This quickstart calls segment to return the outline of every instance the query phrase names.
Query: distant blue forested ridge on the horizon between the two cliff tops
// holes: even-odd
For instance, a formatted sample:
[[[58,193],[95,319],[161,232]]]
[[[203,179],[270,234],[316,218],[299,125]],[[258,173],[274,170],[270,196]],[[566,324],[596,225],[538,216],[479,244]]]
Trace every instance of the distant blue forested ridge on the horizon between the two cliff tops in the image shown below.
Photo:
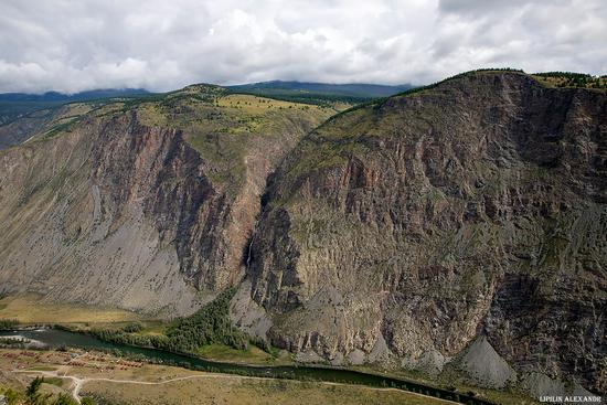
[[[345,99],[348,102],[362,103],[372,98],[387,97],[402,93],[412,85],[386,86],[377,84],[327,84],[308,82],[260,82],[236,86],[227,86],[233,92],[251,93],[270,97],[286,97],[289,99],[313,100]]]

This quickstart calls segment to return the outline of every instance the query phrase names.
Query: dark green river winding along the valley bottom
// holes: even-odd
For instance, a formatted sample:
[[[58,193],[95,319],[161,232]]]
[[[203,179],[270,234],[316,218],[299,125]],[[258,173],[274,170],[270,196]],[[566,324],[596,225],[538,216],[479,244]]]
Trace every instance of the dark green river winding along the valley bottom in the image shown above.
[[[327,366],[254,366],[245,364],[223,363],[203,360],[200,358],[170,353],[157,349],[137,348],[126,344],[100,341],[84,333],[67,332],[58,329],[28,329],[14,331],[0,331],[0,337],[20,335],[35,340],[51,348],[62,345],[87,350],[119,350],[121,353],[145,356],[152,362],[174,364],[192,370],[220,372],[228,374],[244,374],[262,377],[327,381],[336,383],[362,384],[370,386],[392,386],[395,388],[419,393],[444,399],[450,399],[469,405],[490,405],[491,403],[460,393],[426,386],[423,384],[383,376],[379,374],[363,373],[353,370],[336,369]]]

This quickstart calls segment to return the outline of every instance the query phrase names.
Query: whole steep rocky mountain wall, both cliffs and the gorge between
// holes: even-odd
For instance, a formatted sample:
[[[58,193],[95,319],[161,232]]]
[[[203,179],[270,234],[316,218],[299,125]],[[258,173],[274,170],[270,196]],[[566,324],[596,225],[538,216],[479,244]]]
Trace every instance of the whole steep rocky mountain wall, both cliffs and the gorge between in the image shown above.
[[[236,287],[302,362],[603,392],[607,93],[551,81],[67,105],[0,150],[0,294],[172,318]]]

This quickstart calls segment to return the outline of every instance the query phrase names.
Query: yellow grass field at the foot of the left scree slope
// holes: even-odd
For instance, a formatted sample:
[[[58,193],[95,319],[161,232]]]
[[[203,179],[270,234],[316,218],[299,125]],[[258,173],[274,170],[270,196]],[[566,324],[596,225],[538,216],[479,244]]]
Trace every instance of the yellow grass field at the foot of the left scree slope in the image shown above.
[[[97,323],[135,321],[141,316],[121,309],[46,302],[29,294],[2,298],[0,319],[17,319],[20,323]]]

